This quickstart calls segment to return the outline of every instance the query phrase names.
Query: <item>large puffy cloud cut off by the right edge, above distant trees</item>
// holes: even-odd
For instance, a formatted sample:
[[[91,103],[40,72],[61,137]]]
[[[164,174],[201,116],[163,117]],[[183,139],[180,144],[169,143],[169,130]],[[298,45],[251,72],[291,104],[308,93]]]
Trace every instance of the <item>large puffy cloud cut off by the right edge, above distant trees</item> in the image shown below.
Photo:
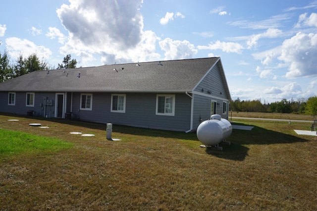
[[[289,65],[286,78],[316,76],[317,34],[297,33],[282,44],[279,60]]]

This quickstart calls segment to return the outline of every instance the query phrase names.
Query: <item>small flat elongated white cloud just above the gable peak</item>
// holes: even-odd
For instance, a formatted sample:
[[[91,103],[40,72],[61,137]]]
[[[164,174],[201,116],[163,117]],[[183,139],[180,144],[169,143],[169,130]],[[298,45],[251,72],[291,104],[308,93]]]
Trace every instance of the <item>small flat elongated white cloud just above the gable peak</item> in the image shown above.
[[[197,47],[199,50],[203,50],[203,49],[209,49],[209,50],[217,50],[220,49],[223,52],[226,53],[242,53],[243,50],[243,46],[238,44],[238,43],[232,43],[232,42],[220,42],[220,41],[216,41],[215,43],[211,43],[208,46],[198,46]]]

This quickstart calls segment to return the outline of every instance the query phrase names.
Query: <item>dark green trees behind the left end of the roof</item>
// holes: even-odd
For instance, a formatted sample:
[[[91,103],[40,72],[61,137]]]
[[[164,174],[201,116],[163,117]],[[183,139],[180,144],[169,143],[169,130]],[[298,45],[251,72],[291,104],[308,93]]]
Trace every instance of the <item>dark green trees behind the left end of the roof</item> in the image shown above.
[[[57,69],[76,68],[76,64],[76,59],[71,59],[71,55],[67,54],[62,63],[58,63]],[[18,58],[12,61],[7,51],[0,52],[0,82],[37,70],[53,69],[55,66],[50,65],[43,58],[40,59],[37,53],[32,53],[27,57],[23,57],[23,54],[20,53]]]

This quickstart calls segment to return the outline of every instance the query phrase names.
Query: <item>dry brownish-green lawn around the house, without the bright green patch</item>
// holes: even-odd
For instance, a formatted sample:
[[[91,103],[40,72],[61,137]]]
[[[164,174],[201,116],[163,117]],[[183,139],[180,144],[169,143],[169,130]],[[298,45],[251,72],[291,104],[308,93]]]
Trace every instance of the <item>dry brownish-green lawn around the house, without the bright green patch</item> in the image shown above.
[[[254,128],[214,151],[195,133],[114,125],[122,141],[108,141],[104,124],[0,115],[3,130],[73,144],[1,157],[0,210],[317,210],[317,138],[293,131],[310,123],[234,124]]]

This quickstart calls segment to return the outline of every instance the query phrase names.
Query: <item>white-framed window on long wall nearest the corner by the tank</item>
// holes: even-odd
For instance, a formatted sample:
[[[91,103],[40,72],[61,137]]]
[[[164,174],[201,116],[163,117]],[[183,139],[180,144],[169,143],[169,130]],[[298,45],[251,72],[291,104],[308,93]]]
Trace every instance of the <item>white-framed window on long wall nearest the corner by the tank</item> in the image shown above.
[[[157,95],[157,115],[175,115],[175,95]]]

